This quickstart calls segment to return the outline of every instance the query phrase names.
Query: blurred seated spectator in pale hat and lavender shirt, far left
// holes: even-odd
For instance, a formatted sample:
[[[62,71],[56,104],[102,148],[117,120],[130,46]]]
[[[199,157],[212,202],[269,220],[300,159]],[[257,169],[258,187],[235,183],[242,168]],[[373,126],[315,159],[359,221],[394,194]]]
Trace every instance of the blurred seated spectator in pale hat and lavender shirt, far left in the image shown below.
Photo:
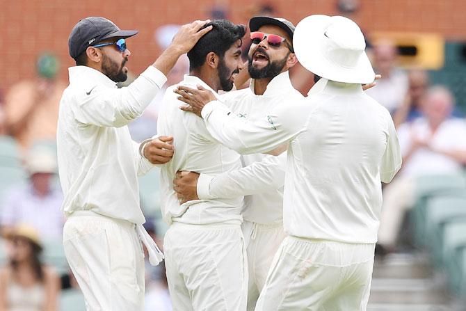
[[[26,158],[29,184],[14,187],[0,208],[4,232],[18,223],[31,225],[43,240],[60,240],[63,235],[63,195],[53,186],[56,157],[45,147],[36,147]]]

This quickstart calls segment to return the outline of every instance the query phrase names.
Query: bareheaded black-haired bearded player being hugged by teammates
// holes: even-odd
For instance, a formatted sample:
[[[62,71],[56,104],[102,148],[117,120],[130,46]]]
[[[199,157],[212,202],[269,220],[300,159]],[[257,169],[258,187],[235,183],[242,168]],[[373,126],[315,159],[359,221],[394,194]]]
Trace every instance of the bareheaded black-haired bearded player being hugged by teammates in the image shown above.
[[[242,67],[242,25],[227,20],[207,24],[213,29],[188,52],[189,74],[178,86],[200,85],[231,90]],[[170,225],[163,241],[173,310],[246,310],[248,271],[241,232],[243,197],[179,202],[173,180],[179,170],[218,175],[241,168],[239,154],[220,144],[202,119],[179,109],[181,102],[167,89],[158,119],[158,134],[173,136],[175,154],[161,168],[161,210]]]

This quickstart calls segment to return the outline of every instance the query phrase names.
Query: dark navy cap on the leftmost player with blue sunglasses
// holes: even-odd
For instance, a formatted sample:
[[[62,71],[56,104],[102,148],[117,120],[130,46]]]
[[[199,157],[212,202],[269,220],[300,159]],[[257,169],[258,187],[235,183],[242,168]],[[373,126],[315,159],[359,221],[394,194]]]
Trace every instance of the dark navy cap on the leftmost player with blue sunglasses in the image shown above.
[[[86,17],[74,25],[68,38],[68,49],[72,58],[77,58],[88,47],[109,38],[129,38],[137,30],[121,30],[104,17]]]

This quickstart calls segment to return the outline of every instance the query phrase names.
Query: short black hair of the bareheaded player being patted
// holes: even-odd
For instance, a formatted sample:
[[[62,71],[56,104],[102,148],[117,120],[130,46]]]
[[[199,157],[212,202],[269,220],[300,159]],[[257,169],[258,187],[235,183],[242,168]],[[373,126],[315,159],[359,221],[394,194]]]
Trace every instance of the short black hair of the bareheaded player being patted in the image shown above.
[[[188,51],[189,71],[204,65],[205,57],[210,52],[223,59],[225,51],[246,33],[245,26],[235,25],[227,19],[214,20],[202,26],[202,29],[208,26],[212,26],[212,30],[203,35],[191,51]]]

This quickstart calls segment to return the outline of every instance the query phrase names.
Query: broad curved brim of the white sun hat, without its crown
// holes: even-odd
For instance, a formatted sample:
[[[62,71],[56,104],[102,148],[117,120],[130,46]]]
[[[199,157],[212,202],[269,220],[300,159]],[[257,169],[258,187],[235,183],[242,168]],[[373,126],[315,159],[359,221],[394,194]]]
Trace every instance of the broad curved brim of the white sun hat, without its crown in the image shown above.
[[[323,55],[323,33],[331,22],[330,16],[312,15],[305,17],[296,26],[293,47],[300,64],[310,72],[332,81],[362,84],[373,82],[376,74],[367,54],[361,54],[355,67],[342,67]]]

